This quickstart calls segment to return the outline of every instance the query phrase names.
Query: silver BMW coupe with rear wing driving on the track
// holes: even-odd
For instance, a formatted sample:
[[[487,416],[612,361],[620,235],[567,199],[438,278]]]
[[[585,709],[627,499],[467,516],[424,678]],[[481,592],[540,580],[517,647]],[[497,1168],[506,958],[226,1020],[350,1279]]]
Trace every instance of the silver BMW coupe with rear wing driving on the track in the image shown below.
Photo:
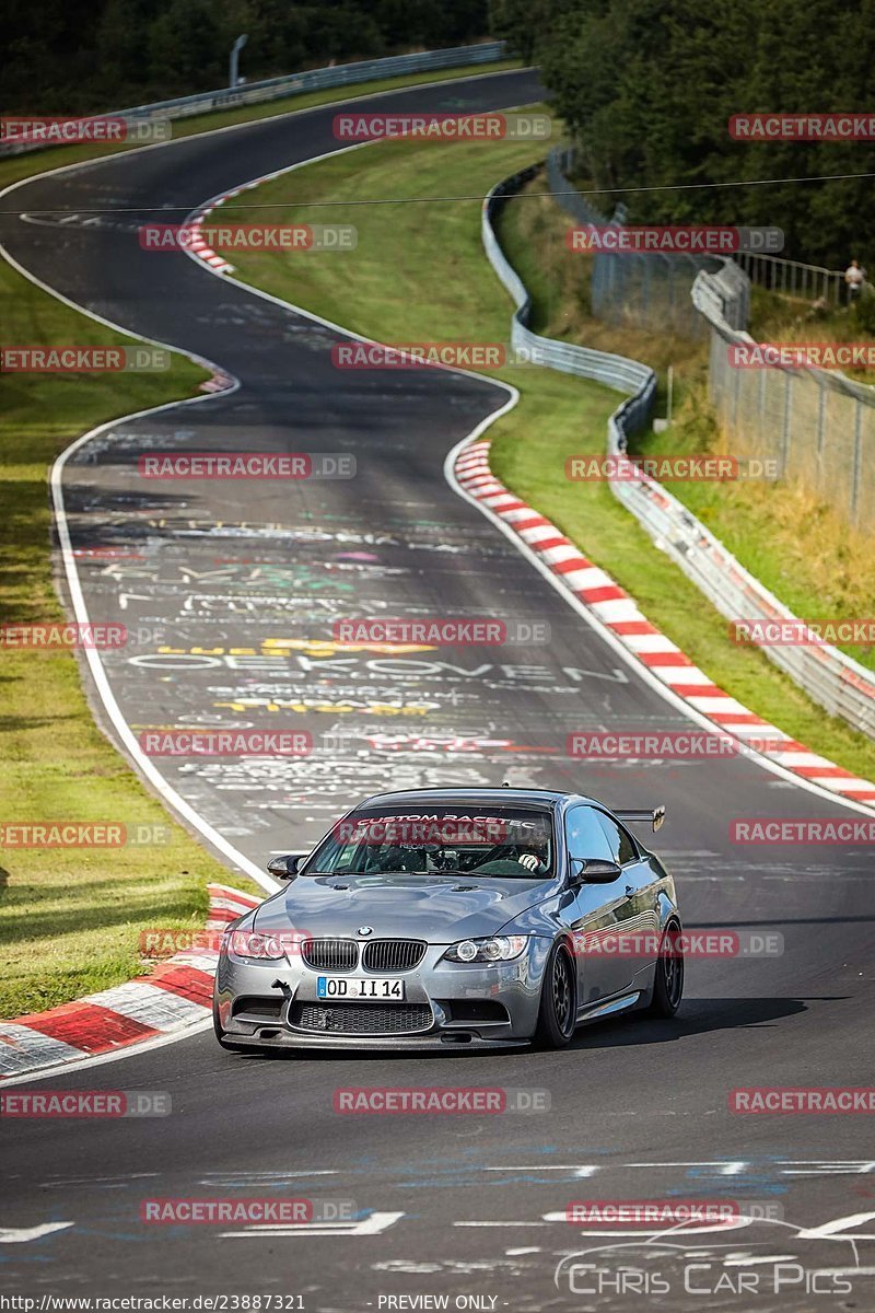
[[[669,1018],[674,881],[611,811],[539,789],[417,789],[353,807],[234,922],[215,978],[226,1049],[561,1048],[586,1022]]]

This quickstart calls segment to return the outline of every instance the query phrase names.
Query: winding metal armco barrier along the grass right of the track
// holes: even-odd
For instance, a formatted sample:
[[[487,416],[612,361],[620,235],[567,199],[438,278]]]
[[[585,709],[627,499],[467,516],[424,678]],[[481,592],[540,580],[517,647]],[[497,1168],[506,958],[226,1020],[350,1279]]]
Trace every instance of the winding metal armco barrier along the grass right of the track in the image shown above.
[[[649,366],[624,356],[590,351],[533,334],[526,327],[529,293],[505,259],[495,234],[493,218],[502,198],[525,186],[538,168],[535,165],[505,179],[489,192],[483,206],[483,244],[492,268],[516,305],[512,345],[530,351],[537,348],[539,356],[535,358],[543,360],[551,369],[593,378],[628,394],[628,399],[622,402],[607,423],[607,453],[621,456],[626,453],[628,436],[649,416],[656,374]],[[725,335],[728,341],[752,340],[748,334],[732,328],[727,319],[727,314],[733,319],[740,315],[748,294],[746,276],[729,260],[716,274],[699,273],[693,286],[697,310],[706,316],[712,330],[719,326],[720,335]],[[798,618],[661,483],[643,474],[640,482],[611,479],[610,487],[720,614],[728,620]],[[830,716],[840,716],[854,729],[875,738],[875,674],[829,645],[763,647],[762,651]]]

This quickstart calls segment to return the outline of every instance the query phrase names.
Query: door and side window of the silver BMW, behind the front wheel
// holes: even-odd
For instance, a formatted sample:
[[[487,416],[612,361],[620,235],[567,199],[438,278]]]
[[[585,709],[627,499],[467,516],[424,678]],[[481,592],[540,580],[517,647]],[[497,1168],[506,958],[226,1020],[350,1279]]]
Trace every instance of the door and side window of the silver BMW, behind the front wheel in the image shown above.
[[[617,861],[598,809],[579,804],[565,813],[565,846],[575,859]],[[610,884],[581,884],[575,890],[573,916],[577,944],[577,999],[590,1006],[621,993],[631,981],[634,964],[611,945],[614,931],[627,918],[624,876]]]

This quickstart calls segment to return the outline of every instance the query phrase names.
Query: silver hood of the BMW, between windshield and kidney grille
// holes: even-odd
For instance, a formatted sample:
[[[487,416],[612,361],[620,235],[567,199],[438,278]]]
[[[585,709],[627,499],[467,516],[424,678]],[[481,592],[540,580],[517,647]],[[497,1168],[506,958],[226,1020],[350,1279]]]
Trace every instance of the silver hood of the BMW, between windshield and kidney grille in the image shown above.
[[[258,907],[254,928],[307,936],[425,939],[451,944],[495,935],[555,893],[554,880],[466,876],[302,876]]]

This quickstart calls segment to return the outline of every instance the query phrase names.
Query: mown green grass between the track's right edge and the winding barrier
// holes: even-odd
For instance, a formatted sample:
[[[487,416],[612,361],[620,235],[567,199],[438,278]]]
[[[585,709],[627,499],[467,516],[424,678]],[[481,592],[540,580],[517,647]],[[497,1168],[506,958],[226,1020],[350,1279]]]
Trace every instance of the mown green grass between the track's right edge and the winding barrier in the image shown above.
[[[258,190],[258,198],[277,206],[272,222],[300,223],[312,215],[302,202],[380,193],[399,198],[484,194],[527,163],[531,147],[513,142],[488,147],[390,142],[277,179]],[[559,312],[561,289],[538,277],[544,244],[526,228],[538,205],[513,202],[502,236],[514,263],[531,280],[542,312],[548,314],[551,305]],[[223,219],[240,215],[231,206],[223,209]],[[325,223],[348,223],[350,210],[338,205],[320,210],[319,217]],[[480,246],[479,202],[362,206],[356,209],[354,222],[358,246],[353,253],[235,255],[237,276],[386,341],[506,343],[510,302]],[[573,332],[573,326],[567,326],[567,332]],[[627,352],[635,355],[632,339],[626,341]],[[670,343],[659,345],[664,353],[670,349]],[[694,373],[701,368],[695,348],[685,349]],[[657,551],[606,484],[565,481],[568,456],[605,450],[606,419],[617,406],[617,394],[542,369],[508,369],[499,377],[522,393],[519,406],[491,431],[499,478],[609,570],[718,684],[813,750],[863,776],[875,776],[875,746],[844,722],[829,720],[761,653],[732,643],[723,617]]]

